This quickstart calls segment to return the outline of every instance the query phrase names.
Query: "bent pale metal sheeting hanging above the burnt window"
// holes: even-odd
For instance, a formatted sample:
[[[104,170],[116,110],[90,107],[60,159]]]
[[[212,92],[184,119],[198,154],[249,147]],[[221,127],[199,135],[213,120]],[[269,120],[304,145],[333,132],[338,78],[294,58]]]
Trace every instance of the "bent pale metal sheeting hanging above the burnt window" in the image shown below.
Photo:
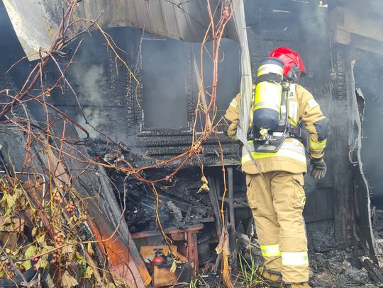
[[[13,28],[29,59],[37,59],[40,47],[48,49],[60,24],[64,2],[59,0],[3,0]],[[211,0],[211,7],[221,3]],[[133,27],[147,33],[187,42],[201,42],[210,19],[206,0],[84,0],[79,3],[77,17],[96,19],[103,28]],[[221,6],[216,17],[221,15]],[[88,23],[87,23],[88,25]],[[38,28],[38,29],[36,29]],[[228,23],[226,37],[238,41],[234,21]]]

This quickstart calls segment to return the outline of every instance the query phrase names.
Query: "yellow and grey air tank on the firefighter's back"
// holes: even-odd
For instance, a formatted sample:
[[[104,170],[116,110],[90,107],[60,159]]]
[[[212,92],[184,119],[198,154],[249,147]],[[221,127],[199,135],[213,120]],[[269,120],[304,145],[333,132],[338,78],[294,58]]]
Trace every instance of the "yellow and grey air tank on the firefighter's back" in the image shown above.
[[[257,71],[252,127],[254,135],[260,129],[272,131],[278,126],[282,98],[284,63],[272,57],[263,58]]]

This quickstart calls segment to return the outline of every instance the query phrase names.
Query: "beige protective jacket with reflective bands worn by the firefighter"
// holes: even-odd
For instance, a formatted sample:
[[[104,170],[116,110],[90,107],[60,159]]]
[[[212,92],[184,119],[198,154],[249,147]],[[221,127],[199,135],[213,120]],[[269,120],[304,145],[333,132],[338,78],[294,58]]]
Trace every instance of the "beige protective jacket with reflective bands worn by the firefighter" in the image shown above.
[[[292,84],[289,93],[289,122],[293,125],[301,120],[309,131],[309,156],[312,159],[323,157],[329,132],[329,121],[309,91],[298,84]],[[226,110],[226,119],[231,123],[228,137],[235,139],[240,115],[240,94],[235,96]],[[250,127],[250,123],[249,123]],[[287,138],[274,153],[255,152],[252,140],[242,150],[242,171],[248,174],[270,171],[306,173],[305,148],[297,139]]]

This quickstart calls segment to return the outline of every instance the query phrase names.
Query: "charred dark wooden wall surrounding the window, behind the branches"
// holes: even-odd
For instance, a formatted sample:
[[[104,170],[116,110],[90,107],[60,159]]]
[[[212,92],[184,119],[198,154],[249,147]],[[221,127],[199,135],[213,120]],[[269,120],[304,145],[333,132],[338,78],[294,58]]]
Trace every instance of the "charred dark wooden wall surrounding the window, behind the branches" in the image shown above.
[[[155,163],[155,161],[150,161],[150,157],[160,160],[170,159],[172,156],[186,151],[191,144],[196,98],[198,95],[198,85],[196,76],[194,75],[192,54],[196,54],[197,62],[199,63],[199,51],[196,50],[196,46],[199,47],[199,44],[183,43],[177,40],[160,38],[148,34],[144,36],[146,40],[142,40],[143,33],[133,28],[113,28],[108,32],[116,41],[118,47],[126,51],[126,53],[122,53],[123,59],[131,68],[134,77],[138,79],[139,83],[133,79],[133,75],[123,67],[121,62],[117,64],[117,67],[115,66],[115,56],[113,52],[106,50],[104,45],[105,40],[99,33],[94,33],[92,38],[87,38],[77,56],[77,64],[70,69],[69,73],[70,79],[72,83],[74,83],[74,88],[76,91],[79,91],[79,100],[82,103],[82,108],[89,122],[97,127],[97,129],[100,129],[101,132],[109,135],[113,141],[121,142],[123,146],[135,149],[135,151],[149,156],[145,160],[143,160],[141,156],[138,156],[137,159],[135,159],[138,166],[147,166]],[[168,105],[170,109],[168,109],[167,113],[164,113],[164,110],[160,108],[158,108],[158,111],[154,110],[149,112],[158,113],[159,115],[156,117],[169,118],[170,125],[168,128],[156,127],[156,125],[152,123],[153,120],[151,120],[150,124],[148,124],[148,121],[145,121],[145,117],[150,117],[150,115],[147,115],[148,112],[145,111],[145,107],[148,106],[148,103],[145,103],[145,99],[146,101],[157,101],[157,99],[155,96],[145,98],[145,88],[146,86],[150,86],[150,80],[153,81],[153,78],[150,79],[148,76],[145,77],[145,75],[143,75],[143,73],[145,73],[145,71],[143,72],[143,59],[145,59],[143,58],[145,57],[143,53],[145,50],[143,50],[142,47],[148,45],[146,44],[148,42],[156,41],[168,41],[174,43],[174,45],[182,44],[186,56],[182,60],[184,63],[181,63],[186,68],[185,71],[183,71],[186,85],[184,93],[180,93],[179,95],[185,107],[179,107],[174,101],[168,100],[166,105]],[[230,93],[229,98],[226,92],[226,99],[218,100],[217,121],[222,117],[231,98],[239,91],[239,50],[237,44],[234,43],[234,45],[231,45],[237,49],[231,52],[231,54],[236,53],[238,57],[236,59],[236,66],[233,67],[233,72],[228,75],[231,76],[234,74],[236,78],[229,79],[228,76],[222,73],[221,80],[226,83],[226,87],[221,88],[222,93],[228,90],[228,86],[233,93]],[[169,53],[172,53],[172,50],[169,50]],[[148,54],[146,54],[146,56],[150,57]],[[169,57],[171,57],[171,55]],[[233,61],[235,61],[235,59]],[[206,61],[206,67],[209,66],[208,64],[209,62]],[[174,64],[170,63],[170,65]],[[174,69],[176,68],[177,67],[174,67]],[[157,73],[158,77],[164,77],[161,69],[156,71],[155,66],[150,67],[150,69]],[[209,69],[206,70],[208,71],[205,73],[209,74]],[[149,72],[152,74],[152,71],[147,72],[148,74]],[[172,79],[171,74],[169,78]],[[84,82],[87,81],[87,79],[93,81],[91,86]],[[230,86],[228,83],[233,84]],[[175,86],[177,85],[174,83],[174,87]],[[158,94],[160,94],[162,90],[170,91],[172,86],[169,86],[169,83],[158,83],[157,87],[152,88],[157,89]],[[152,93],[152,91],[148,91],[147,88],[147,93]],[[57,107],[67,111],[67,113],[79,120],[81,124],[84,124],[84,119],[80,115],[77,102],[68,87],[65,87],[64,95],[58,93],[53,101]],[[177,110],[180,109],[185,110],[185,120],[182,121],[186,122],[186,124],[177,121],[176,114],[178,112]],[[85,127],[87,127],[87,125],[85,125]],[[91,136],[103,138],[90,127],[87,128],[89,128]],[[199,131],[200,129],[201,124],[198,123],[196,130]],[[226,162],[236,163],[235,161],[238,160],[238,147],[225,137],[222,132],[218,133],[218,139],[220,139],[221,144],[223,144]],[[219,151],[220,149],[216,143],[216,139],[210,139],[204,145],[204,151],[200,155],[200,158],[205,165],[214,165],[220,162]],[[199,159],[192,159],[188,166],[197,165],[198,162]],[[180,161],[174,161],[170,166],[177,167],[180,163]]]

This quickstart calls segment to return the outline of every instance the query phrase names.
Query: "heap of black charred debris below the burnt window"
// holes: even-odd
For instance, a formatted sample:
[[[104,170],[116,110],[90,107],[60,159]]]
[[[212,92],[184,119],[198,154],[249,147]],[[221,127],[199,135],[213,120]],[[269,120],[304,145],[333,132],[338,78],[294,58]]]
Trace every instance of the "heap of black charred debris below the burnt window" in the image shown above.
[[[107,142],[98,139],[89,144],[89,153],[107,163],[118,163],[118,158],[121,157],[128,159],[133,165],[135,162],[130,152],[111,149]],[[157,229],[157,215],[164,229],[186,229],[189,226],[214,221],[209,195],[204,191],[197,193],[201,187],[201,183],[196,181],[201,178],[199,168],[185,168],[172,179],[170,185],[155,185],[157,195],[150,185],[136,180],[133,175],[114,169],[106,171],[116,199],[122,201],[121,195],[126,193],[125,219],[132,233]],[[170,173],[168,169],[153,168],[145,171],[145,178],[162,178]],[[120,205],[123,206],[123,203]]]

